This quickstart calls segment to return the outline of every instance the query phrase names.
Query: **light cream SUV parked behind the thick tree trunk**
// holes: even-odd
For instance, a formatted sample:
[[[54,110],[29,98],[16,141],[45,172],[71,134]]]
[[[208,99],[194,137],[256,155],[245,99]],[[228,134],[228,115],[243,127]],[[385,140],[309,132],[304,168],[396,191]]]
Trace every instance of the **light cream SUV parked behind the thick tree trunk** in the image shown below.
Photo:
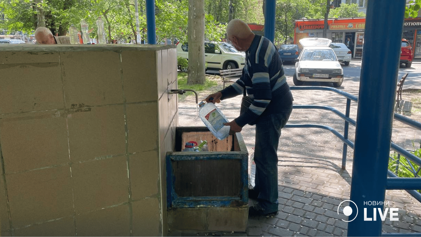
[[[189,59],[189,44],[177,43],[177,56]],[[205,42],[205,62],[207,69],[225,70],[243,68],[245,53],[237,51],[232,45],[224,42]]]

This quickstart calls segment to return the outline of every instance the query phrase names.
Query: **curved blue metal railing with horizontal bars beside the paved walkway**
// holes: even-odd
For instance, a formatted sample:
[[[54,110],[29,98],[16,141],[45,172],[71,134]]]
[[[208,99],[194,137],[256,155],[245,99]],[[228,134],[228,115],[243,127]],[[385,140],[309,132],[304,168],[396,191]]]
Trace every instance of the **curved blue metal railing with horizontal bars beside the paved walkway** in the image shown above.
[[[321,124],[287,124],[285,125],[285,128],[320,128],[320,129],[326,129],[333,133],[336,137],[341,139],[344,142],[344,148],[342,151],[342,169],[345,169],[346,167],[346,154],[347,154],[347,147],[354,148],[354,143],[348,139],[348,132],[349,132],[349,124],[352,124],[356,126],[356,122],[354,119],[349,117],[350,108],[351,108],[351,100],[354,102],[358,102],[358,98],[352,94],[349,94],[347,92],[343,92],[341,90],[338,90],[336,88],[332,87],[322,87],[322,86],[292,86],[291,90],[324,90],[324,91],[330,91],[335,92],[336,94],[339,94],[346,98],[346,108],[345,108],[345,114],[341,113],[340,111],[336,110],[333,107],[330,106],[322,106],[322,105],[293,105],[293,109],[321,109],[321,110],[329,110],[333,113],[335,113],[337,116],[344,119],[344,135],[342,135],[340,132],[336,131],[332,127],[321,125]],[[421,130],[421,123],[415,120],[412,120],[410,118],[407,118],[405,116],[402,116],[400,114],[395,113],[394,119],[397,121],[400,121],[402,123],[405,123],[414,129]],[[390,148],[397,152],[398,154],[405,157],[405,159],[410,160],[421,167],[421,159],[418,156],[415,156],[414,154],[410,153],[409,151],[405,150],[404,148],[400,147],[399,145],[396,145],[395,143],[391,143]],[[406,167],[410,172],[412,172],[414,175],[417,175],[421,168],[416,170],[410,162],[409,166]],[[399,178],[397,175],[395,175],[392,171],[388,170],[387,175],[389,178],[386,179],[386,188],[388,190],[392,189],[399,189],[399,190],[406,190],[409,194],[411,194],[415,199],[418,200],[418,202],[421,202],[421,194],[416,191],[415,189],[421,189],[421,178]],[[417,177],[417,176],[415,176]],[[382,233],[381,236],[420,236],[420,233]]]

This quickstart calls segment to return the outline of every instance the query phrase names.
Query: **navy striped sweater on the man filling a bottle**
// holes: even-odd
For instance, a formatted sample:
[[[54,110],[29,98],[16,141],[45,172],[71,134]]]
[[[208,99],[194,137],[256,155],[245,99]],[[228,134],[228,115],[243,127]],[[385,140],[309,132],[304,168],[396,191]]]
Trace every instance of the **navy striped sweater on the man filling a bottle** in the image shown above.
[[[293,101],[282,61],[269,39],[255,35],[245,55],[240,79],[221,90],[221,100],[224,100],[242,94],[245,86],[248,96],[253,100],[248,110],[235,118],[240,127],[254,124],[253,121],[261,115],[287,110]]]

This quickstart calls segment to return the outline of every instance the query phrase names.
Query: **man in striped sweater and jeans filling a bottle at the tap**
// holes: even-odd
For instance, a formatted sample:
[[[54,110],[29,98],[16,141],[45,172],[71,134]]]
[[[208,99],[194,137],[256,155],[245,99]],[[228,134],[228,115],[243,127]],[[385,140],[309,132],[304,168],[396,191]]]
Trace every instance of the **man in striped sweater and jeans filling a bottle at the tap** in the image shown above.
[[[240,132],[245,124],[256,124],[254,162],[255,187],[248,191],[256,199],[249,216],[278,213],[278,156],[281,129],[292,112],[293,97],[286,81],[282,61],[274,44],[255,35],[244,21],[233,19],[226,27],[228,40],[238,51],[245,51],[242,76],[231,86],[210,94],[206,102],[217,102],[247,92],[252,103],[248,109],[225,125],[230,133]]]

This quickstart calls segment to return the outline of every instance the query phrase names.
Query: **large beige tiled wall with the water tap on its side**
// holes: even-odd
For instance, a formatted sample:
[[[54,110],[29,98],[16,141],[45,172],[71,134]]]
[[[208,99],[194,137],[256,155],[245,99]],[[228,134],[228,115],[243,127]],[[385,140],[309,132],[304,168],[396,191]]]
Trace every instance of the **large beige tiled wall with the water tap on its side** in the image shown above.
[[[174,46],[0,47],[2,236],[165,236]]]

